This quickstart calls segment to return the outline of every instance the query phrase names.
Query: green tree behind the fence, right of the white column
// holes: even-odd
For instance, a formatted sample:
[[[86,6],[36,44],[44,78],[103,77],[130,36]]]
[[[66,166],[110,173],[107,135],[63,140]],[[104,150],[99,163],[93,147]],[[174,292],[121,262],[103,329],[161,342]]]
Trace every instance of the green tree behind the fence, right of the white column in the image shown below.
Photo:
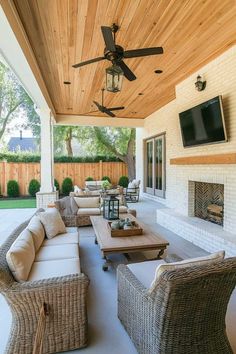
[[[74,134],[88,152],[115,155],[128,166],[129,180],[135,178],[135,129],[77,127]]]

